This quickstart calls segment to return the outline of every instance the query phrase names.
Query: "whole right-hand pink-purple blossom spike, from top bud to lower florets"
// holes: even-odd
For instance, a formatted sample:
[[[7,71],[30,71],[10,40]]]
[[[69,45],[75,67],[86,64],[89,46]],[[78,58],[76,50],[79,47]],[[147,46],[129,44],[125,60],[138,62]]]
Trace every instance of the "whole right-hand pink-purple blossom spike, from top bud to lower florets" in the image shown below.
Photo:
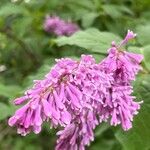
[[[135,34],[128,31],[124,41],[134,37]],[[121,51],[115,42],[112,43],[108,57],[100,63],[105,72],[112,73],[114,78],[104,105],[99,109],[101,120],[111,118],[111,125],[121,124],[124,130],[132,127],[133,116],[138,113],[141,103],[134,101],[132,81],[142,69],[142,59],[142,55]]]

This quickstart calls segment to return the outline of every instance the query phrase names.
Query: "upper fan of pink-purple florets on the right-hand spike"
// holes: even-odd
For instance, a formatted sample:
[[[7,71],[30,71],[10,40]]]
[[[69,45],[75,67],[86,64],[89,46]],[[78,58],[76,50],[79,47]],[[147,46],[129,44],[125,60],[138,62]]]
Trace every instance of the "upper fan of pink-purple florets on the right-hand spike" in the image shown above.
[[[117,47],[109,49],[109,55],[101,62],[106,72],[113,72],[114,78],[122,81],[135,80],[135,75],[142,69],[143,55],[120,51]]]

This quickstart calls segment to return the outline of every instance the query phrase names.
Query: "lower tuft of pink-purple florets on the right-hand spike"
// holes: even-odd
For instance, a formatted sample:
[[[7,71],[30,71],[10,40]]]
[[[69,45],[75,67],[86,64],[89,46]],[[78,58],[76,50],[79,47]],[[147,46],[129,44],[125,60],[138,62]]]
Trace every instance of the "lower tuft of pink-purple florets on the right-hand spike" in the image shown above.
[[[106,101],[105,105],[107,107],[103,108],[104,110],[109,110],[111,125],[121,124],[124,130],[129,130],[132,127],[133,116],[140,109],[141,102],[134,102],[133,99],[135,97],[131,93],[132,86],[118,85],[112,88],[110,99],[112,103]]]

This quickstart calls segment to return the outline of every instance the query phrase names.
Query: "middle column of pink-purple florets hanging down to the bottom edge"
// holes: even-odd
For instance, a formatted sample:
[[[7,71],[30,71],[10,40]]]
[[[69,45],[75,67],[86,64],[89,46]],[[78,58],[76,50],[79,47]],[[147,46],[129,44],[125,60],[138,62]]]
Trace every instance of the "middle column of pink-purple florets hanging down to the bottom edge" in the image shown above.
[[[111,74],[101,70],[91,55],[81,56],[80,63],[74,70],[73,81],[82,92],[82,109],[73,117],[71,124],[57,133],[59,139],[56,150],[84,150],[86,145],[90,145],[100,119],[100,116],[97,117],[97,109],[103,105],[112,80]]]

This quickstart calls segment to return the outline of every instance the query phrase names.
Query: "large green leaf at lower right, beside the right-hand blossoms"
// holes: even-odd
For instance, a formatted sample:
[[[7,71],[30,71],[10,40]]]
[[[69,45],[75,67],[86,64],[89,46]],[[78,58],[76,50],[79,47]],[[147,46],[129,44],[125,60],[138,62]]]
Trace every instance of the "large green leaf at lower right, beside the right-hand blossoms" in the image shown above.
[[[144,100],[139,114],[128,132],[119,130],[115,136],[125,150],[148,150],[150,148],[150,75],[140,76],[134,84],[135,95]]]

